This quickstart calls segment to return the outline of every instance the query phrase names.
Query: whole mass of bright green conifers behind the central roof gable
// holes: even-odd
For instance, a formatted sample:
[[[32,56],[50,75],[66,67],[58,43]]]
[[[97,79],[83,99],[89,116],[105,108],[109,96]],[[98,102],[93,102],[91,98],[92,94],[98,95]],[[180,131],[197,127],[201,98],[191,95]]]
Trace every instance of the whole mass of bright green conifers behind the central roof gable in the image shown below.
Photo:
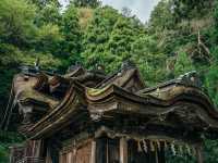
[[[165,68],[160,67],[165,66],[161,60],[166,58],[157,50],[155,39],[147,35],[144,25],[109,7],[95,11],[84,34],[82,55],[86,66],[104,63],[108,72],[118,70],[123,60],[131,59],[150,84],[165,77],[159,74],[165,74]]]

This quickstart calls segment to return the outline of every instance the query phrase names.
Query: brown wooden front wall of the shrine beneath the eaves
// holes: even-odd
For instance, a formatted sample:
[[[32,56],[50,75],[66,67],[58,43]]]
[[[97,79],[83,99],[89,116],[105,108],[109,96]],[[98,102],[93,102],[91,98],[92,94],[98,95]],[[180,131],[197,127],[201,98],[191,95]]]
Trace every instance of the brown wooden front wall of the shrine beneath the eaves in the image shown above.
[[[147,152],[138,151],[138,142],[135,140],[102,137],[75,145],[63,147],[59,151],[59,161],[53,161],[48,150],[46,163],[165,163],[162,148],[153,151],[148,146]]]

